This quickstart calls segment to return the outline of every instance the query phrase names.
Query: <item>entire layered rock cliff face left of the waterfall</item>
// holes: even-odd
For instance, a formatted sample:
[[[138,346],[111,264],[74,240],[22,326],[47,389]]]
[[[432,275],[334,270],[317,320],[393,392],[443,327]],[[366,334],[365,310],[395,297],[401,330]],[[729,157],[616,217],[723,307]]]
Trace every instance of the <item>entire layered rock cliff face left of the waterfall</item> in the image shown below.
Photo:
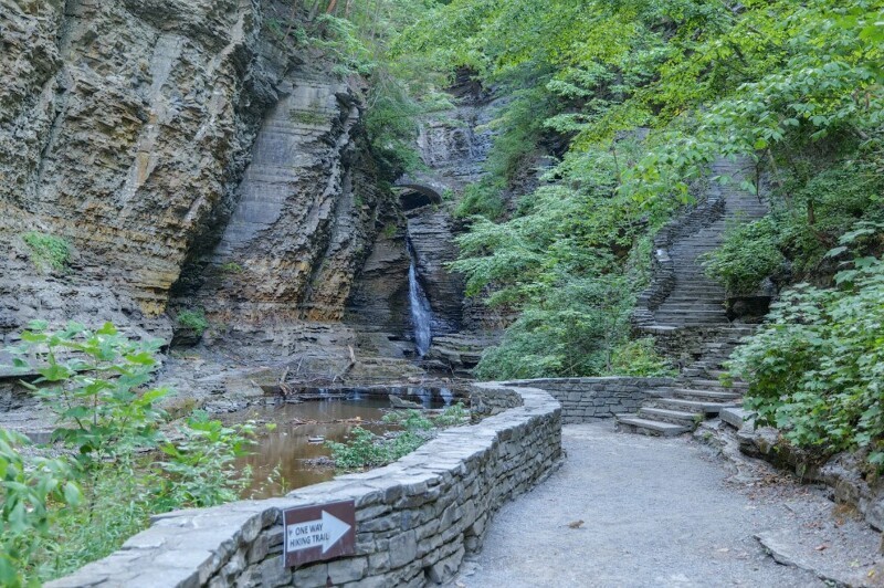
[[[338,319],[396,202],[361,88],[259,0],[0,0],[0,328]],[[392,222],[396,222],[394,220]],[[72,245],[39,271],[29,231]],[[403,245],[404,249],[404,245]]]

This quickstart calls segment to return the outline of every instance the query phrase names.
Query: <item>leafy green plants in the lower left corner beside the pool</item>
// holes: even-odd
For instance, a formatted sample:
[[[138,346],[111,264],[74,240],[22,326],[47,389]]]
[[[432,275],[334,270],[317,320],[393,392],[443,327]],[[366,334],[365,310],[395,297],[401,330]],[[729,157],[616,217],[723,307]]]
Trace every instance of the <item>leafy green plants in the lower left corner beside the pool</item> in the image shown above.
[[[149,385],[158,347],[110,324],[51,332],[32,322],[21,344],[6,349],[14,368],[39,374],[24,386],[54,412],[52,437],[65,451],[43,458],[44,450],[0,429],[3,586],[34,585],[104,557],[151,514],[239,496],[245,480],[231,462],[251,426],[194,416],[168,440],[158,403],[169,390]]]

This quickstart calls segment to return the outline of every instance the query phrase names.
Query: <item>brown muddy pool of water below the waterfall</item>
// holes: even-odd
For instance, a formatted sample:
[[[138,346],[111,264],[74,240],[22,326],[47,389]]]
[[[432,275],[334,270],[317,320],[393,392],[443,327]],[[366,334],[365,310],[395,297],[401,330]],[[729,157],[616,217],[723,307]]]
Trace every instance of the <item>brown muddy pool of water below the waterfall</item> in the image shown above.
[[[381,434],[393,429],[382,422],[391,410],[389,395],[418,402],[428,409],[444,408],[463,397],[448,388],[372,388],[317,390],[311,400],[299,403],[257,406],[230,414],[233,422],[254,420],[274,423],[275,430],[260,427],[252,453],[236,461],[238,469],[252,470],[252,483],[245,498],[282,496],[292,490],[326,482],[335,469],[317,461],[329,458],[325,441],[343,442],[355,427]]]

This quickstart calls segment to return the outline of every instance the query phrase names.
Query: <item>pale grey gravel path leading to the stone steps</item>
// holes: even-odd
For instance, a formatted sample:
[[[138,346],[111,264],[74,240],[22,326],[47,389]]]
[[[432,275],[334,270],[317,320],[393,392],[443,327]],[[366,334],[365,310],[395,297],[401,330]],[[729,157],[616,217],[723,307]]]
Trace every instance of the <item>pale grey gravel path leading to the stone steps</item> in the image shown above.
[[[821,492],[760,462],[757,475],[740,468],[732,476],[733,466],[686,438],[615,433],[610,423],[593,423],[566,427],[564,442],[565,465],[497,513],[483,552],[464,563],[452,586],[827,585],[777,564],[755,537],[800,537],[808,526],[818,532],[808,523],[813,516],[830,524],[833,504]],[[874,550],[877,535],[853,524],[863,548]]]

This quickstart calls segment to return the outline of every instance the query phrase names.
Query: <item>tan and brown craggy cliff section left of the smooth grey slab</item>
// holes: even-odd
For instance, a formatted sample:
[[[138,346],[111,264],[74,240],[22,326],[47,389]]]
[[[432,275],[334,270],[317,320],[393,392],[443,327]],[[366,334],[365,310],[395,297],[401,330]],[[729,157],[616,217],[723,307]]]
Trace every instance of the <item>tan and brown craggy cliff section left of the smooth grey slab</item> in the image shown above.
[[[22,231],[62,237],[80,253],[69,283],[113,284],[133,311],[162,313],[276,97],[276,72],[259,56],[260,7],[2,0],[0,9],[0,239],[21,252]]]

